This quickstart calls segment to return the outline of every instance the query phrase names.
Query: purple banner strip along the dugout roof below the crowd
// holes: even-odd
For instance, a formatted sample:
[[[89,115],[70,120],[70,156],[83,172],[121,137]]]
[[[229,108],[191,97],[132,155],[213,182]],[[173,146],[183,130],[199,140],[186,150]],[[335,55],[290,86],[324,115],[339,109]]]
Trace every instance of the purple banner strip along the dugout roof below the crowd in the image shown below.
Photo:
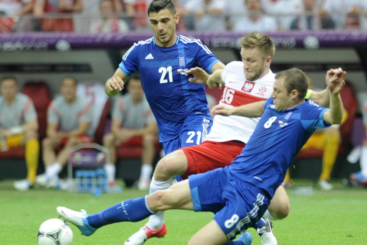
[[[191,39],[200,39],[211,49],[240,48],[246,33],[236,32],[178,32]],[[287,31],[267,32],[277,48],[318,49],[322,47],[366,47],[367,32],[363,31]],[[153,32],[110,34],[80,33],[4,33],[0,34],[0,52],[127,49],[134,42],[152,37]]]

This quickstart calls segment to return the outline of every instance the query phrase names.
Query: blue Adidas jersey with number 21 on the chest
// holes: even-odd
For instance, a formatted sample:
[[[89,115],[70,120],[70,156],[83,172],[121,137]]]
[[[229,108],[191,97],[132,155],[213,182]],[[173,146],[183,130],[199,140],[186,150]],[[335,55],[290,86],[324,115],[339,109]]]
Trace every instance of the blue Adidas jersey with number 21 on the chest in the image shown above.
[[[146,100],[157,120],[160,142],[166,142],[180,135],[190,116],[210,118],[204,85],[189,82],[185,72],[199,66],[211,73],[219,60],[198,39],[180,35],[171,47],[160,47],[154,39],[134,43],[119,67],[127,76],[139,71]]]

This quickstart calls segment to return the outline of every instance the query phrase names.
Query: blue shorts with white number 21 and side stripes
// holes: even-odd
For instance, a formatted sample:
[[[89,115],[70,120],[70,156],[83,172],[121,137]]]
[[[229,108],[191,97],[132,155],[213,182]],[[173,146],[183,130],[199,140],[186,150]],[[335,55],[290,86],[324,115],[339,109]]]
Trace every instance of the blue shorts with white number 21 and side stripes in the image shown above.
[[[186,146],[200,145],[210,132],[211,125],[213,124],[211,117],[202,114],[190,117],[186,121],[177,138],[162,142],[166,155]],[[181,176],[175,176],[175,178],[177,181],[183,180]]]

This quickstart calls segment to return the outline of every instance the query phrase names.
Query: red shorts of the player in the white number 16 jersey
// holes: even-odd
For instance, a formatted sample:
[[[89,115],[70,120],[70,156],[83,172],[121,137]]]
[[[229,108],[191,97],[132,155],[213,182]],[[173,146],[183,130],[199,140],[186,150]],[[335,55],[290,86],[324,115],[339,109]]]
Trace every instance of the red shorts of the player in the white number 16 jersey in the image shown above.
[[[187,158],[187,170],[181,177],[187,179],[192,174],[228,166],[240,155],[245,145],[240,141],[204,141],[200,145],[182,148]]]

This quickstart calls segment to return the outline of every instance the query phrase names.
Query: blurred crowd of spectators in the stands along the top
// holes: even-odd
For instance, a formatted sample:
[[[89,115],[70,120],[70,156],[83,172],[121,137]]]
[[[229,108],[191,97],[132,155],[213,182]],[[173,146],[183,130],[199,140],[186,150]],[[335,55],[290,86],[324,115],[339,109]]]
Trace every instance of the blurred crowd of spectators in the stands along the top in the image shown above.
[[[0,0],[0,32],[149,30],[151,0]],[[175,0],[179,30],[367,29],[366,0]]]

